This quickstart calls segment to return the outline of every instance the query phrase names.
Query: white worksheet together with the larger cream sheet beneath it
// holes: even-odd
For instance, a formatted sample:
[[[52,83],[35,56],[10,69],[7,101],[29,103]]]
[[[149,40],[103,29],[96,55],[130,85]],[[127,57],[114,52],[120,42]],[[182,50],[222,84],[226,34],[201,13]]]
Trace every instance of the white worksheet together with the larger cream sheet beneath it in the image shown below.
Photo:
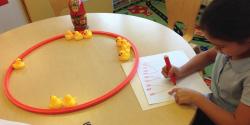
[[[209,88],[198,73],[194,73],[188,77],[177,81],[177,85],[170,83],[169,79],[162,74],[162,67],[165,66],[164,56],[169,56],[170,62],[175,67],[180,67],[185,64],[189,58],[183,51],[172,51],[151,56],[140,57],[138,71],[135,78],[131,81],[132,88],[143,109],[150,109],[157,106],[166,105],[173,102],[173,97],[168,94],[168,91],[174,87],[185,87],[203,94],[210,93]],[[131,62],[122,64],[125,73],[128,75],[131,70]],[[139,77],[139,80],[138,78]],[[141,84],[138,85],[138,84]],[[144,93],[142,92],[142,90]],[[143,97],[145,96],[145,97]],[[147,104],[145,104],[145,99]],[[161,104],[164,103],[164,104]]]

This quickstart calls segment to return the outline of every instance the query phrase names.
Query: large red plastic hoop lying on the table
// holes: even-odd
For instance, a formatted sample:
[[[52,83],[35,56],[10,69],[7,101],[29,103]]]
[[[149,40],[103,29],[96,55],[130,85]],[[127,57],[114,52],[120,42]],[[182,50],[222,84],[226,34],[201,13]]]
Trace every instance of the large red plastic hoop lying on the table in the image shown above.
[[[106,36],[113,37],[113,38],[117,38],[118,36],[120,36],[122,38],[127,39],[126,37],[123,37],[123,36],[118,35],[118,34],[110,33],[110,32],[104,32],[104,31],[92,31],[92,32],[93,32],[93,34],[106,35]],[[21,55],[19,55],[18,58],[23,59],[28,54],[30,54],[32,51],[36,50],[37,48],[39,48],[39,47],[41,47],[41,46],[43,46],[43,45],[45,45],[47,43],[50,43],[50,42],[53,42],[55,40],[61,39],[61,38],[64,38],[64,34],[60,34],[60,35],[54,36],[52,38],[46,39],[44,41],[41,41],[40,43],[38,43],[38,44],[32,46],[31,48],[27,49],[25,52],[23,52]],[[134,77],[134,75],[136,74],[138,63],[139,63],[138,51],[137,51],[136,46],[130,40],[127,39],[127,41],[131,44],[131,47],[132,47],[133,52],[134,52],[134,57],[135,57],[135,61],[134,61],[132,70],[130,71],[129,75],[125,78],[125,80],[123,80],[120,84],[118,84],[116,87],[114,87],[113,89],[111,89],[107,93],[105,93],[105,94],[103,94],[103,95],[101,95],[101,96],[99,96],[99,97],[97,97],[95,99],[92,99],[90,101],[87,101],[85,103],[82,103],[82,104],[79,104],[79,105],[76,105],[76,106],[73,106],[73,107],[66,107],[66,108],[61,108],[61,109],[36,108],[36,107],[26,105],[26,104],[18,101],[17,99],[15,99],[12,96],[12,94],[11,94],[11,92],[9,90],[9,79],[10,79],[11,73],[13,71],[12,64],[15,61],[13,61],[11,63],[11,65],[9,66],[9,68],[8,68],[6,74],[5,74],[4,84],[3,84],[4,94],[16,106],[18,106],[18,107],[20,107],[20,108],[22,108],[24,110],[34,112],[34,113],[40,113],[40,114],[53,115],[53,114],[69,113],[69,112],[74,112],[74,111],[86,109],[86,108],[89,108],[89,107],[94,106],[96,104],[99,104],[99,103],[109,99],[110,97],[114,96],[121,89],[123,89],[126,85],[128,85],[129,82]]]

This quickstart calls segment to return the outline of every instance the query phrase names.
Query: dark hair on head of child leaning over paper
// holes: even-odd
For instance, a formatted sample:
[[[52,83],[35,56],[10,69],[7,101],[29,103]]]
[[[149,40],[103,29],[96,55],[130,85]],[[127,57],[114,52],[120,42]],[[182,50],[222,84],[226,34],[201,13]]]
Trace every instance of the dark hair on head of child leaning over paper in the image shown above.
[[[213,0],[200,22],[210,36],[233,42],[250,38],[250,0]]]

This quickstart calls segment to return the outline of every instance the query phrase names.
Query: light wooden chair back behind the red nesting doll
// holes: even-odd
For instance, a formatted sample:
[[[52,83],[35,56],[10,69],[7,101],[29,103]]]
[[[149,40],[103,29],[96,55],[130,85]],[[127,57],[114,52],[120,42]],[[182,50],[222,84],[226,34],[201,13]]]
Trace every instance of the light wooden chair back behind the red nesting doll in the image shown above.
[[[112,13],[112,0],[84,0],[87,12]],[[68,14],[67,0],[24,0],[31,21]]]

